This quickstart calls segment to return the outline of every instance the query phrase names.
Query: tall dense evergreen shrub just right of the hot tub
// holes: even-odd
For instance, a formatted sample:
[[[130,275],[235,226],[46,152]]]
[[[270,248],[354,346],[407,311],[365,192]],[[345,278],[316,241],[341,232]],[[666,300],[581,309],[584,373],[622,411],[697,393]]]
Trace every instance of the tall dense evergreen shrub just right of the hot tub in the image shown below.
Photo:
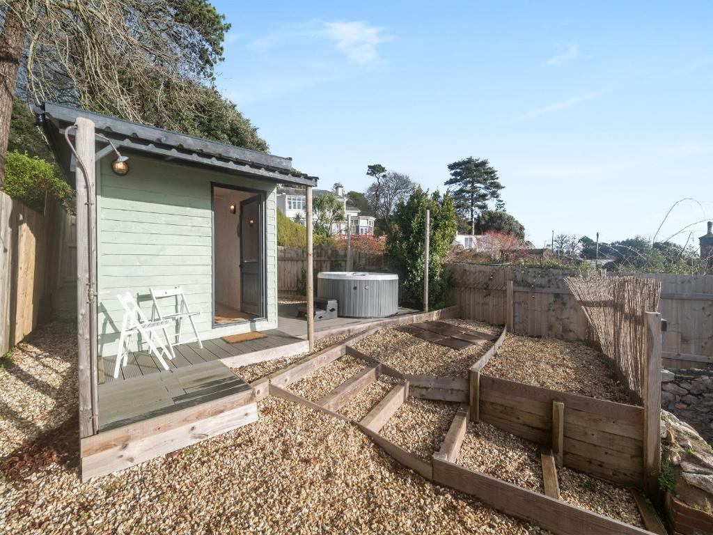
[[[401,302],[411,307],[424,305],[424,251],[426,208],[431,210],[429,233],[429,303],[446,305],[448,280],[445,265],[448,250],[456,237],[456,209],[448,193],[417,187],[409,200],[401,200],[386,229],[386,260],[399,274]]]

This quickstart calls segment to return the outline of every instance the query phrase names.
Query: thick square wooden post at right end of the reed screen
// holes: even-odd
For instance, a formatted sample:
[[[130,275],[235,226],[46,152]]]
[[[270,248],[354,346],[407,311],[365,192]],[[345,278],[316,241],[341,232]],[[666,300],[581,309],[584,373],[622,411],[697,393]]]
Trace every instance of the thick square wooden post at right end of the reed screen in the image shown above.
[[[644,368],[644,488],[650,499],[660,494],[661,472],[661,314],[645,313],[647,355]]]

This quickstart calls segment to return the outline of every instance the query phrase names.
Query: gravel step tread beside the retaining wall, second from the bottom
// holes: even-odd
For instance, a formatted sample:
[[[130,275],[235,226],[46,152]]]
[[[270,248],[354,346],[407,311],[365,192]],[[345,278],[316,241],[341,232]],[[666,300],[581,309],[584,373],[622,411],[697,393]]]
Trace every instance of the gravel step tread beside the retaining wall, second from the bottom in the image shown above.
[[[468,422],[458,464],[525,489],[544,492],[540,447],[486,422]]]

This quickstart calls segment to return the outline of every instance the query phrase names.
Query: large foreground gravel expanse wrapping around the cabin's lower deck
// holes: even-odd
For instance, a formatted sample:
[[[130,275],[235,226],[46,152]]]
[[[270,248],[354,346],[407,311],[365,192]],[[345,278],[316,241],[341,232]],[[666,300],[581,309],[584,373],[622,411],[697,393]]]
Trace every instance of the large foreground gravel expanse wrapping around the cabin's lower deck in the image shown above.
[[[45,328],[32,346],[61,353],[25,346],[2,374],[6,406],[56,386],[42,407],[0,413],[1,428],[14,429],[3,447],[15,449],[0,463],[0,533],[541,532],[399,467],[353,425],[272,397],[255,424],[81,484],[76,416],[48,430],[61,407],[76,407],[68,331]],[[20,461],[31,470],[18,471]]]

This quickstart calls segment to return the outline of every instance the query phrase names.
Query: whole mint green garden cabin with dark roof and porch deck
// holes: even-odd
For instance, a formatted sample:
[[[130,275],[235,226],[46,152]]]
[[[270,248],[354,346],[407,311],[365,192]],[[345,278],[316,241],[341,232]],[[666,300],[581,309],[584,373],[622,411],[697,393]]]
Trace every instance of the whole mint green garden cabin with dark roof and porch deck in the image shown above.
[[[68,178],[83,180],[78,156],[90,186],[75,184],[83,479],[254,422],[255,393],[230,367],[307,350],[277,330],[276,190],[317,178],[291,158],[68,106],[37,115]],[[148,330],[122,337],[132,302]],[[155,336],[181,342],[164,342],[168,370],[145,339],[161,317]]]

